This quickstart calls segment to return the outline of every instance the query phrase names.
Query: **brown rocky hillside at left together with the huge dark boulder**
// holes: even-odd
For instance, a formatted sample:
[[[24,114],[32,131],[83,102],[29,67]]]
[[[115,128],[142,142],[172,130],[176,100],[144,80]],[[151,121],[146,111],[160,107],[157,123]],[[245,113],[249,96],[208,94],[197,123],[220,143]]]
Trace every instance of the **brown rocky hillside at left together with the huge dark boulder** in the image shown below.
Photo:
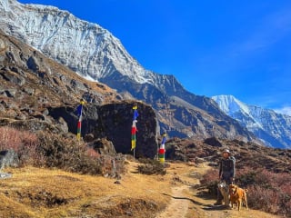
[[[151,106],[125,101],[105,84],[88,82],[0,31],[0,126],[72,137],[78,119],[76,106],[88,94],[92,103],[85,104],[82,122],[86,142],[94,146],[111,143],[117,153],[130,153],[132,107],[137,104],[144,116],[138,118],[136,137],[143,146],[136,146],[135,154],[156,155],[159,129]]]

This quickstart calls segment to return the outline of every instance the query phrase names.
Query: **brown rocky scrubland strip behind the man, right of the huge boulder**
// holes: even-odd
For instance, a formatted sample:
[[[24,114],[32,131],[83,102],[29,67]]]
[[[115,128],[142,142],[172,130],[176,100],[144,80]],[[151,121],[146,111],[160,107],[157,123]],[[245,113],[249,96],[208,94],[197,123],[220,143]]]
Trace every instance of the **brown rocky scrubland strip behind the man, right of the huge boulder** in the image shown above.
[[[236,157],[236,168],[266,169],[274,173],[291,173],[291,150],[272,148],[237,140],[221,140],[215,137],[206,140],[172,138],[166,143],[166,159],[183,162],[210,162],[215,165],[221,152],[228,148]]]

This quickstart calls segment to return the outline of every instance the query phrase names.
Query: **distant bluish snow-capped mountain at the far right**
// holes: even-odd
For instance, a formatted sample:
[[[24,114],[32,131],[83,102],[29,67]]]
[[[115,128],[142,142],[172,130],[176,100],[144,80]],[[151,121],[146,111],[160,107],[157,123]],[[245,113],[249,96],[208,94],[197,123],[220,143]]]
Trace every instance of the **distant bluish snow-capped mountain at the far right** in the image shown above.
[[[291,147],[291,116],[240,102],[232,95],[217,95],[212,99],[229,116],[273,147]]]

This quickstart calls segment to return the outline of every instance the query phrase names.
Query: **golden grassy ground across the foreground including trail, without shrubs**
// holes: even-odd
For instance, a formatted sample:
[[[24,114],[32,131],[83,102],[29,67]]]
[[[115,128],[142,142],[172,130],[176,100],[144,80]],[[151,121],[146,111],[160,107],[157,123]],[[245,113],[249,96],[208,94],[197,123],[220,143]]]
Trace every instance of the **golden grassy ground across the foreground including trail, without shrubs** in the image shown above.
[[[166,175],[136,173],[139,163],[125,164],[120,184],[56,169],[6,169],[13,177],[0,180],[0,217],[276,217],[245,208],[216,209],[215,199],[199,197],[190,186],[209,169],[206,163],[169,163]]]

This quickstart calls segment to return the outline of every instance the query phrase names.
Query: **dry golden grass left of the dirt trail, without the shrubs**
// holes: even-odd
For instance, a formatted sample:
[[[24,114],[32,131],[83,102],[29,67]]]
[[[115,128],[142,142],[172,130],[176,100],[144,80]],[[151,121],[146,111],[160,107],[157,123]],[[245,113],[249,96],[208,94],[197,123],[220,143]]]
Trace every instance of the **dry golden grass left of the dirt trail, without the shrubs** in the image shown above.
[[[128,164],[120,184],[102,176],[60,170],[10,169],[13,177],[0,180],[0,217],[106,217],[105,213],[108,217],[125,213],[154,217],[169,198],[160,193],[169,190],[167,179],[135,173],[136,164]]]

